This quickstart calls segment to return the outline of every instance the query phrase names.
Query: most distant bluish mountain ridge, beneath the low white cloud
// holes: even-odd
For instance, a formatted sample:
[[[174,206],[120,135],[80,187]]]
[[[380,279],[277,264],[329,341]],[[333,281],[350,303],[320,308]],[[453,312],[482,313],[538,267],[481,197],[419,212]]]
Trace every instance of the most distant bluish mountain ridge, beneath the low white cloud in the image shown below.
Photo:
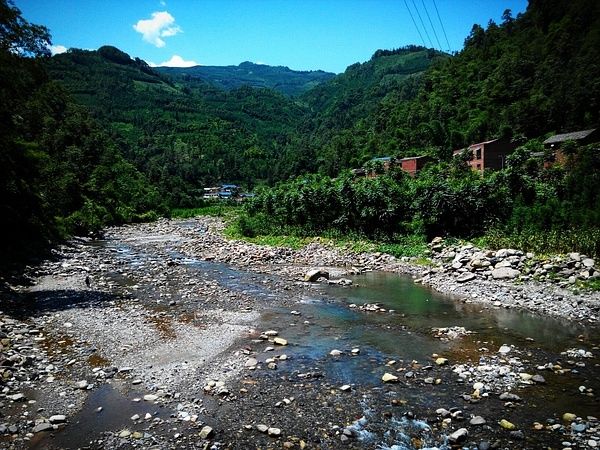
[[[199,79],[228,91],[250,86],[274,89],[288,96],[302,94],[335,76],[322,70],[297,71],[249,61],[238,66],[156,67],[156,71],[184,82]]]

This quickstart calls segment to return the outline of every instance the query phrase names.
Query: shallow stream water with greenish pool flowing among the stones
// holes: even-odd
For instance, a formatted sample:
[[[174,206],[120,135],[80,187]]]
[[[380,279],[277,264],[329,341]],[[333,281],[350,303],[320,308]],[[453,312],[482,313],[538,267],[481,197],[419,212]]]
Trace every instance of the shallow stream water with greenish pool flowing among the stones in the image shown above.
[[[114,251],[124,264],[134,270],[141,271],[145,264],[156,260],[155,255],[140,253],[126,245],[118,245]],[[283,295],[272,292],[269,284],[263,282],[276,279],[275,276],[258,275],[222,263],[183,258],[175,252],[171,255],[186,267],[190,276],[208,273],[232,291],[264,298],[265,301],[276,300]],[[114,280],[124,285],[128,283],[118,275]],[[435,293],[415,284],[410,277],[397,274],[373,272],[355,276],[352,280],[354,285],[351,287],[314,284],[305,289],[300,297],[294,297],[297,300],[295,309],[300,315],[291,315],[289,308],[278,306],[276,301],[267,302],[260,327],[278,330],[290,343],[284,349],[290,359],[280,364],[277,376],[317,368],[333,385],[351,384],[353,389],[363,393],[363,417],[353,427],[365,446],[417,448],[415,437],[420,439],[419,445],[439,448],[446,445],[443,439],[430,433],[426,422],[413,420],[412,415],[407,418],[407,410],[414,411],[416,417],[430,417],[430,412],[437,408],[459,407],[473,414],[488,416],[493,427],[497,427],[497,420],[506,416],[524,430],[529,430],[534,421],[546,423],[548,419],[560,419],[564,412],[573,412],[581,417],[600,414],[598,397],[582,395],[579,391],[579,386],[585,386],[600,394],[598,329],[523,311],[465,303]],[[144,292],[139,292],[138,297],[140,294]],[[366,312],[350,306],[367,303],[377,303],[388,311]],[[432,328],[453,326],[464,327],[473,334],[450,341],[434,337]],[[501,345],[514,346],[515,355],[525,361],[527,372],[542,374],[546,384],[517,386],[514,392],[525,401],[510,411],[498,402],[465,405],[459,397],[472,391],[470,384],[457,382],[450,367],[443,372],[437,371],[433,355],[448,358],[450,365],[476,366],[482,355],[496,355]],[[359,356],[351,356],[353,348],[360,349]],[[570,348],[592,351],[594,358],[583,361],[585,367],[568,365],[566,361],[569,358],[560,353]],[[341,350],[343,354],[331,357],[329,352],[333,349]],[[278,351],[283,352],[281,349]],[[392,368],[386,366],[390,360],[397,361]],[[556,375],[552,371],[536,369],[538,365],[549,362],[561,363],[575,371]],[[385,372],[394,372],[398,367],[410,370],[411,364],[417,368],[433,365],[432,374],[435,375],[432,376],[439,376],[441,384],[424,385],[405,380],[404,373],[399,372],[401,383],[395,392],[382,385],[381,376]],[[420,378],[423,376],[419,375]],[[83,411],[74,418],[78,424],[71,427],[78,426],[86,435],[122,428],[119,423],[130,422],[132,410],[128,405],[131,404],[130,397],[135,395],[130,394],[124,395],[112,388],[99,389],[90,395]],[[401,412],[390,412],[382,421],[380,412],[387,410],[391,397],[408,406]],[[99,405],[105,411],[113,411],[114,415],[103,417],[98,422],[95,410]],[[62,439],[60,435],[63,435]],[[74,438],[73,434],[69,438],[65,435],[66,430],[58,433],[56,442],[69,446],[84,442],[75,439],[77,436]],[[560,442],[560,438],[556,442]],[[556,442],[553,440],[552,444]],[[547,436],[534,438],[528,445],[536,448],[536,443],[548,443]]]

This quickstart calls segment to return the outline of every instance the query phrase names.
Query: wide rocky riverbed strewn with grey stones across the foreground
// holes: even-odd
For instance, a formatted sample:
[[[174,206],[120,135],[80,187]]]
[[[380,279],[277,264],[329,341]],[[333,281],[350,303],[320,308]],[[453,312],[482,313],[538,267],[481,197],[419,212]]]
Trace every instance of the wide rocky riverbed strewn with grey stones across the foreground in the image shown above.
[[[508,249],[498,255],[436,242],[433,264],[422,267],[319,242],[293,251],[230,241],[222,227],[200,218],[108,229],[31,268],[31,285],[6,287],[1,445],[600,445],[600,297],[569,280],[595,276],[585,255],[542,264],[546,273],[537,275],[567,269],[557,283],[534,277],[533,257]],[[322,282],[304,281],[315,268]],[[501,268],[519,274],[494,277]],[[448,308],[440,315],[454,308],[456,321],[469,314],[473,327],[480,314],[529,310],[577,332],[544,345],[529,330],[424,327],[393,304],[345,302],[360,287],[335,280],[356,286],[358,274],[372,271],[407,274],[451,294],[440,300]]]

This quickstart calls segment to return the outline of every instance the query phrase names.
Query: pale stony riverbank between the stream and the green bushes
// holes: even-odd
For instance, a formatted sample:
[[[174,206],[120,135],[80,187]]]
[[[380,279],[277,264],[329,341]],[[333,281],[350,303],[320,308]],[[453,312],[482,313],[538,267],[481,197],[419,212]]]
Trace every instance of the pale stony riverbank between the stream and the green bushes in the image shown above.
[[[149,224],[147,232],[152,233],[156,229],[154,227],[168,232],[172,227],[176,228],[176,224],[167,221]],[[443,258],[434,258],[431,266],[423,266],[412,263],[410,258],[398,259],[382,253],[357,254],[318,241],[300,250],[291,250],[228,240],[222,235],[224,224],[218,218],[204,218],[197,227],[186,230],[190,240],[181,248],[184,254],[231,263],[260,273],[285,276],[291,281],[302,280],[305,272],[315,267],[330,270],[338,277],[348,273],[382,270],[410,275],[420,283],[456,297],[458,301],[478,303],[488,308],[521,308],[589,324],[597,324],[600,320],[598,291],[576,289],[566,283],[558,285],[551,278],[547,281],[537,281],[529,276],[525,279],[495,279],[491,276],[491,270],[466,270],[463,267],[467,267],[467,264],[459,264],[460,267],[451,270],[454,261],[464,258],[465,254],[477,256],[478,252],[481,253],[470,245],[451,250],[454,254],[450,251],[443,253],[439,249],[438,253]],[[198,229],[202,233],[198,233]],[[485,253],[489,253],[490,257],[501,254]],[[518,253],[524,256],[522,252]],[[533,258],[534,255],[530,254],[529,259]],[[511,266],[508,264],[505,267]],[[465,277],[467,273],[469,276]]]

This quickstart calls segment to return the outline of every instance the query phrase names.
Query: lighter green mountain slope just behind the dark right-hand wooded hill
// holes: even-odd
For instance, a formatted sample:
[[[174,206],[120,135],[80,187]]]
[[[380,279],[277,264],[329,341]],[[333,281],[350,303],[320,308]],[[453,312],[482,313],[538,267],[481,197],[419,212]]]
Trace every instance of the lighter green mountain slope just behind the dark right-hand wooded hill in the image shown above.
[[[365,63],[356,63],[299,100],[310,110],[302,124],[298,148],[280,160],[282,171],[335,176],[374,156],[396,153],[393,136],[377,132],[378,111],[386,103],[405,103],[416,97],[420,79],[432,64],[448,55],[419,46],[378,50]]]

